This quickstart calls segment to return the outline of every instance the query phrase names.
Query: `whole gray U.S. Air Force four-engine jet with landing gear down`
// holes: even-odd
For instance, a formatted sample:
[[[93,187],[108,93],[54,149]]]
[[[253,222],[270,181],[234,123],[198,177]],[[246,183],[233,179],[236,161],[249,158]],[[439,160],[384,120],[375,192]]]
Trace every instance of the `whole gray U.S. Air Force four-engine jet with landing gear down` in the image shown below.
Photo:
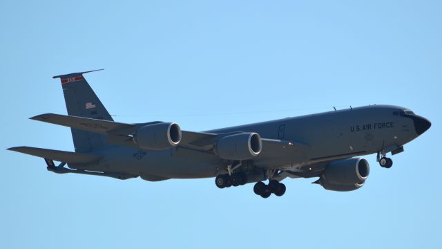
[[[41,114],[32,120],[70,127],[75,152],[12,147],[46,161],[57,174],[164,181],[215,178],[219,188],[255,183],[253,192],[282,196],[285,178],[318,178],[326,190],[352,191],[369,176],[364,156],[392,167],[387,158],[430,128],[410,109],[369,105],[211,131],[184,131],[175,122],[115,122],[84,78],[57,75],[68,116]],[[54,161],[60,162],[55,165]],[[67,166],[67,167],[65,167]],[[263,181],[269,181],[268,184]]]

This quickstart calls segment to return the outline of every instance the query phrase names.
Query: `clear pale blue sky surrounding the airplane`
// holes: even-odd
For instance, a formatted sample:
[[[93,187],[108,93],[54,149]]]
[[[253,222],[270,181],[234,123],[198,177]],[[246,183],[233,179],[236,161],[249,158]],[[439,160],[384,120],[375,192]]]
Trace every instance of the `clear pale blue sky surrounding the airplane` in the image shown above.
[[[441,1],[0,0],[0,248],[442,248]],[[214,179],[57,175],[73,151],[53,75],[86,78],[120,122],[202,131],[349,105],[432,121],[363,188],[286,179],[285,196]]]

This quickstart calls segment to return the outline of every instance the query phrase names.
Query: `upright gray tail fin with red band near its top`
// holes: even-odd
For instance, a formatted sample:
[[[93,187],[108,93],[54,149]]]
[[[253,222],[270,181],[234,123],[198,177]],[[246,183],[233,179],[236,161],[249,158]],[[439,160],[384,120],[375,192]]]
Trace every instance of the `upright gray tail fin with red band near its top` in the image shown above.
[[[111,115],[83,77],[84,73],[89,72],[93,71],[70,73],[53,77],[54,79],[60,78],[61,80],[68,115],[113,121]],[[76,152],[93,151],[107,145],[106,135],[73,128],[70,130],[72,131]]]

